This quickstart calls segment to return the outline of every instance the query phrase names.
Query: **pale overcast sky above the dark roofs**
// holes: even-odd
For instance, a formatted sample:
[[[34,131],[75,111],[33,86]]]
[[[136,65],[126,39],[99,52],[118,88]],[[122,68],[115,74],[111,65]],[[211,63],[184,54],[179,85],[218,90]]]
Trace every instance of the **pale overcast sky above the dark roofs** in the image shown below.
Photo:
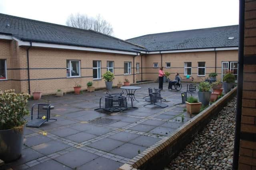
[[[238,24],[238,0],[0,0],[0,13],[66,25],[73,13],[101,14],[113,36]]]

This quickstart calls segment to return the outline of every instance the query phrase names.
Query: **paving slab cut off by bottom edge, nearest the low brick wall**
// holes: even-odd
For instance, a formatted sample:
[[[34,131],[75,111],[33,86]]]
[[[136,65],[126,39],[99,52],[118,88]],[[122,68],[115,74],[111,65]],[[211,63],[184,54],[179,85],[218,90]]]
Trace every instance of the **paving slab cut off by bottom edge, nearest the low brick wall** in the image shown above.
[[[100,156],[95,160],[92,160],[91,162],[88,162],[87,164],[84,164],[78,167],[77,169],[78,170],[116,170],[120,166],[122,166],[122,164],[123,163],[121,162],[116,162],[114,160],[110,160]]]

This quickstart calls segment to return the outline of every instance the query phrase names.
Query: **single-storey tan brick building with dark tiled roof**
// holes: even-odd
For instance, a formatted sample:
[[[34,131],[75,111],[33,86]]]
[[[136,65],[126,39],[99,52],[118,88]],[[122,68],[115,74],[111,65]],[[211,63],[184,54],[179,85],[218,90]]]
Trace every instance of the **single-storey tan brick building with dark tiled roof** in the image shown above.
[[[57,89],[93,81],[114,72],[114,85],[156,80],[158,69],[204,80],[210,72],[222,79],[238,72],[238,25],[144,35],[126,41],[92,30],[0,14],[0,89],[17,92]]]

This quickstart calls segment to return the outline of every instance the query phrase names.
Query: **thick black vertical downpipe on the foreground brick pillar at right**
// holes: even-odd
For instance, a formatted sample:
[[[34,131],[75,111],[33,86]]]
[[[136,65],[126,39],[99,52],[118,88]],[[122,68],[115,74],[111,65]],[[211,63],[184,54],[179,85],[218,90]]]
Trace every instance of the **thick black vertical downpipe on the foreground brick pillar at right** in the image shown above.
[[[243,72],[244,72],[244,0],[239,0],[239,48],[238,48],[238,82],[236,99],[236,129],[234,140],[233,170],[238,169],[240,131],[242,115]]]

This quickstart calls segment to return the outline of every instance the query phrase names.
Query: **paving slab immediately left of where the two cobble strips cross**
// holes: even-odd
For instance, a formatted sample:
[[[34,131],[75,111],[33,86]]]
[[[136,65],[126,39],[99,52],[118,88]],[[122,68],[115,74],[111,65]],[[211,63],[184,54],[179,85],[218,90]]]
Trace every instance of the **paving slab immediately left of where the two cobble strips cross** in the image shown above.
[[[58,152],[60,150],[66,149],[68,147],[70,147],[70,146],[66,145],[64,143],[61,143],[58,141],[50,141],[47,143],[42,143],[40,145],[36,145],[36,146],[32,147],[32,149],[34,149],[42,154],[48,155],[48,154],[52,154],[54,152]]]

